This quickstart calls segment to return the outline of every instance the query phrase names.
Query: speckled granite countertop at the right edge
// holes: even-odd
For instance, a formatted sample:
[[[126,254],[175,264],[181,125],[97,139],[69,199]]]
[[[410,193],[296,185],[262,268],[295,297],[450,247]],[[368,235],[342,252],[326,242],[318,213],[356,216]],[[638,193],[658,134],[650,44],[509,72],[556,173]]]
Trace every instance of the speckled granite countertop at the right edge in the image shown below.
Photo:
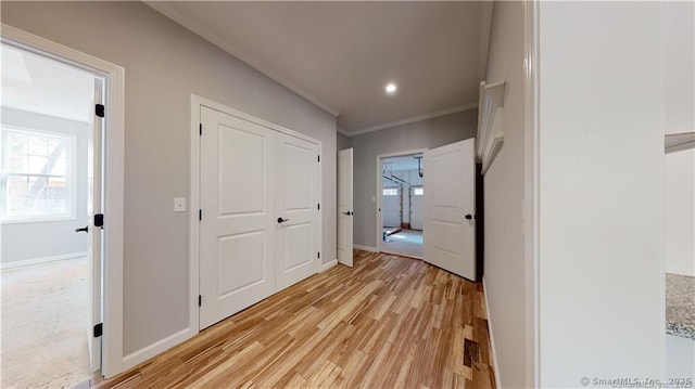
[[[666,273],[666,333],[695,340],[695,277]]]

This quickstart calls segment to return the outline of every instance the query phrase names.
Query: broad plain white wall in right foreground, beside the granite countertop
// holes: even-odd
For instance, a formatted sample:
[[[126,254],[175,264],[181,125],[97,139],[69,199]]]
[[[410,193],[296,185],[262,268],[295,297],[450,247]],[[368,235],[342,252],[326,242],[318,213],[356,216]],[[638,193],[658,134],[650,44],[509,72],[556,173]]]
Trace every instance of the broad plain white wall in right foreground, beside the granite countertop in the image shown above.
[[[662,373],[659,7],[540,3],[543,387]]]

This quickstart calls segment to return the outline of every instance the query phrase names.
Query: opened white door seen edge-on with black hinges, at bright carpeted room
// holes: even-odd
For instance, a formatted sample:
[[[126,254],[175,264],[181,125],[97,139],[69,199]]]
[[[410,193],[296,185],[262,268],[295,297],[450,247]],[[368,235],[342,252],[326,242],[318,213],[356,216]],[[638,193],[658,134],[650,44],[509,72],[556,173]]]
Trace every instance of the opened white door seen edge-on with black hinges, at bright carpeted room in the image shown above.
[[[97,220],[97,215],[102,215],[102,164],[101,140],[103,135],[103,117],[97,116],[96,104],[103,104],[103,80],[94,78],[94,101],[91,105],[91,131],[88,132],[87,153],[87,263],[89,271],[89,302],[90,320],[87,328],[87,347],[92,372],[101,368],[101,335],[96,334],[97,326],[102,328],[101,316],[101,258],[102,258],[102,229],[103,217]],[[99,336],[94,336],[99,335]]]

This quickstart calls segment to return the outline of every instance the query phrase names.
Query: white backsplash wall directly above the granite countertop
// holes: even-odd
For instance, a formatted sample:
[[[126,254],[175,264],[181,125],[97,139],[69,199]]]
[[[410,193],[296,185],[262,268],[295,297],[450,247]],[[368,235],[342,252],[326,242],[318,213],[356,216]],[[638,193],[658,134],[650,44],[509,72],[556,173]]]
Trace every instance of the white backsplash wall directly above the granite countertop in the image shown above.
[[[664,163],[666,272],[695,276],[695,148]]]

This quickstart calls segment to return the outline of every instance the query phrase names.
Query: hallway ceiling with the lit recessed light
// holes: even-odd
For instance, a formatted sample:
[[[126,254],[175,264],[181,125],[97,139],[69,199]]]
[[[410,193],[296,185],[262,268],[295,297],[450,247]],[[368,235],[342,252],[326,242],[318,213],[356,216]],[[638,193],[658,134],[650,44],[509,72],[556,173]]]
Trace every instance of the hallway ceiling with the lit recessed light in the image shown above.
[[[148,4],[338,115],[352,134],[476,106],[488,2]],[[387,82],[397,92],[389,96]]]

